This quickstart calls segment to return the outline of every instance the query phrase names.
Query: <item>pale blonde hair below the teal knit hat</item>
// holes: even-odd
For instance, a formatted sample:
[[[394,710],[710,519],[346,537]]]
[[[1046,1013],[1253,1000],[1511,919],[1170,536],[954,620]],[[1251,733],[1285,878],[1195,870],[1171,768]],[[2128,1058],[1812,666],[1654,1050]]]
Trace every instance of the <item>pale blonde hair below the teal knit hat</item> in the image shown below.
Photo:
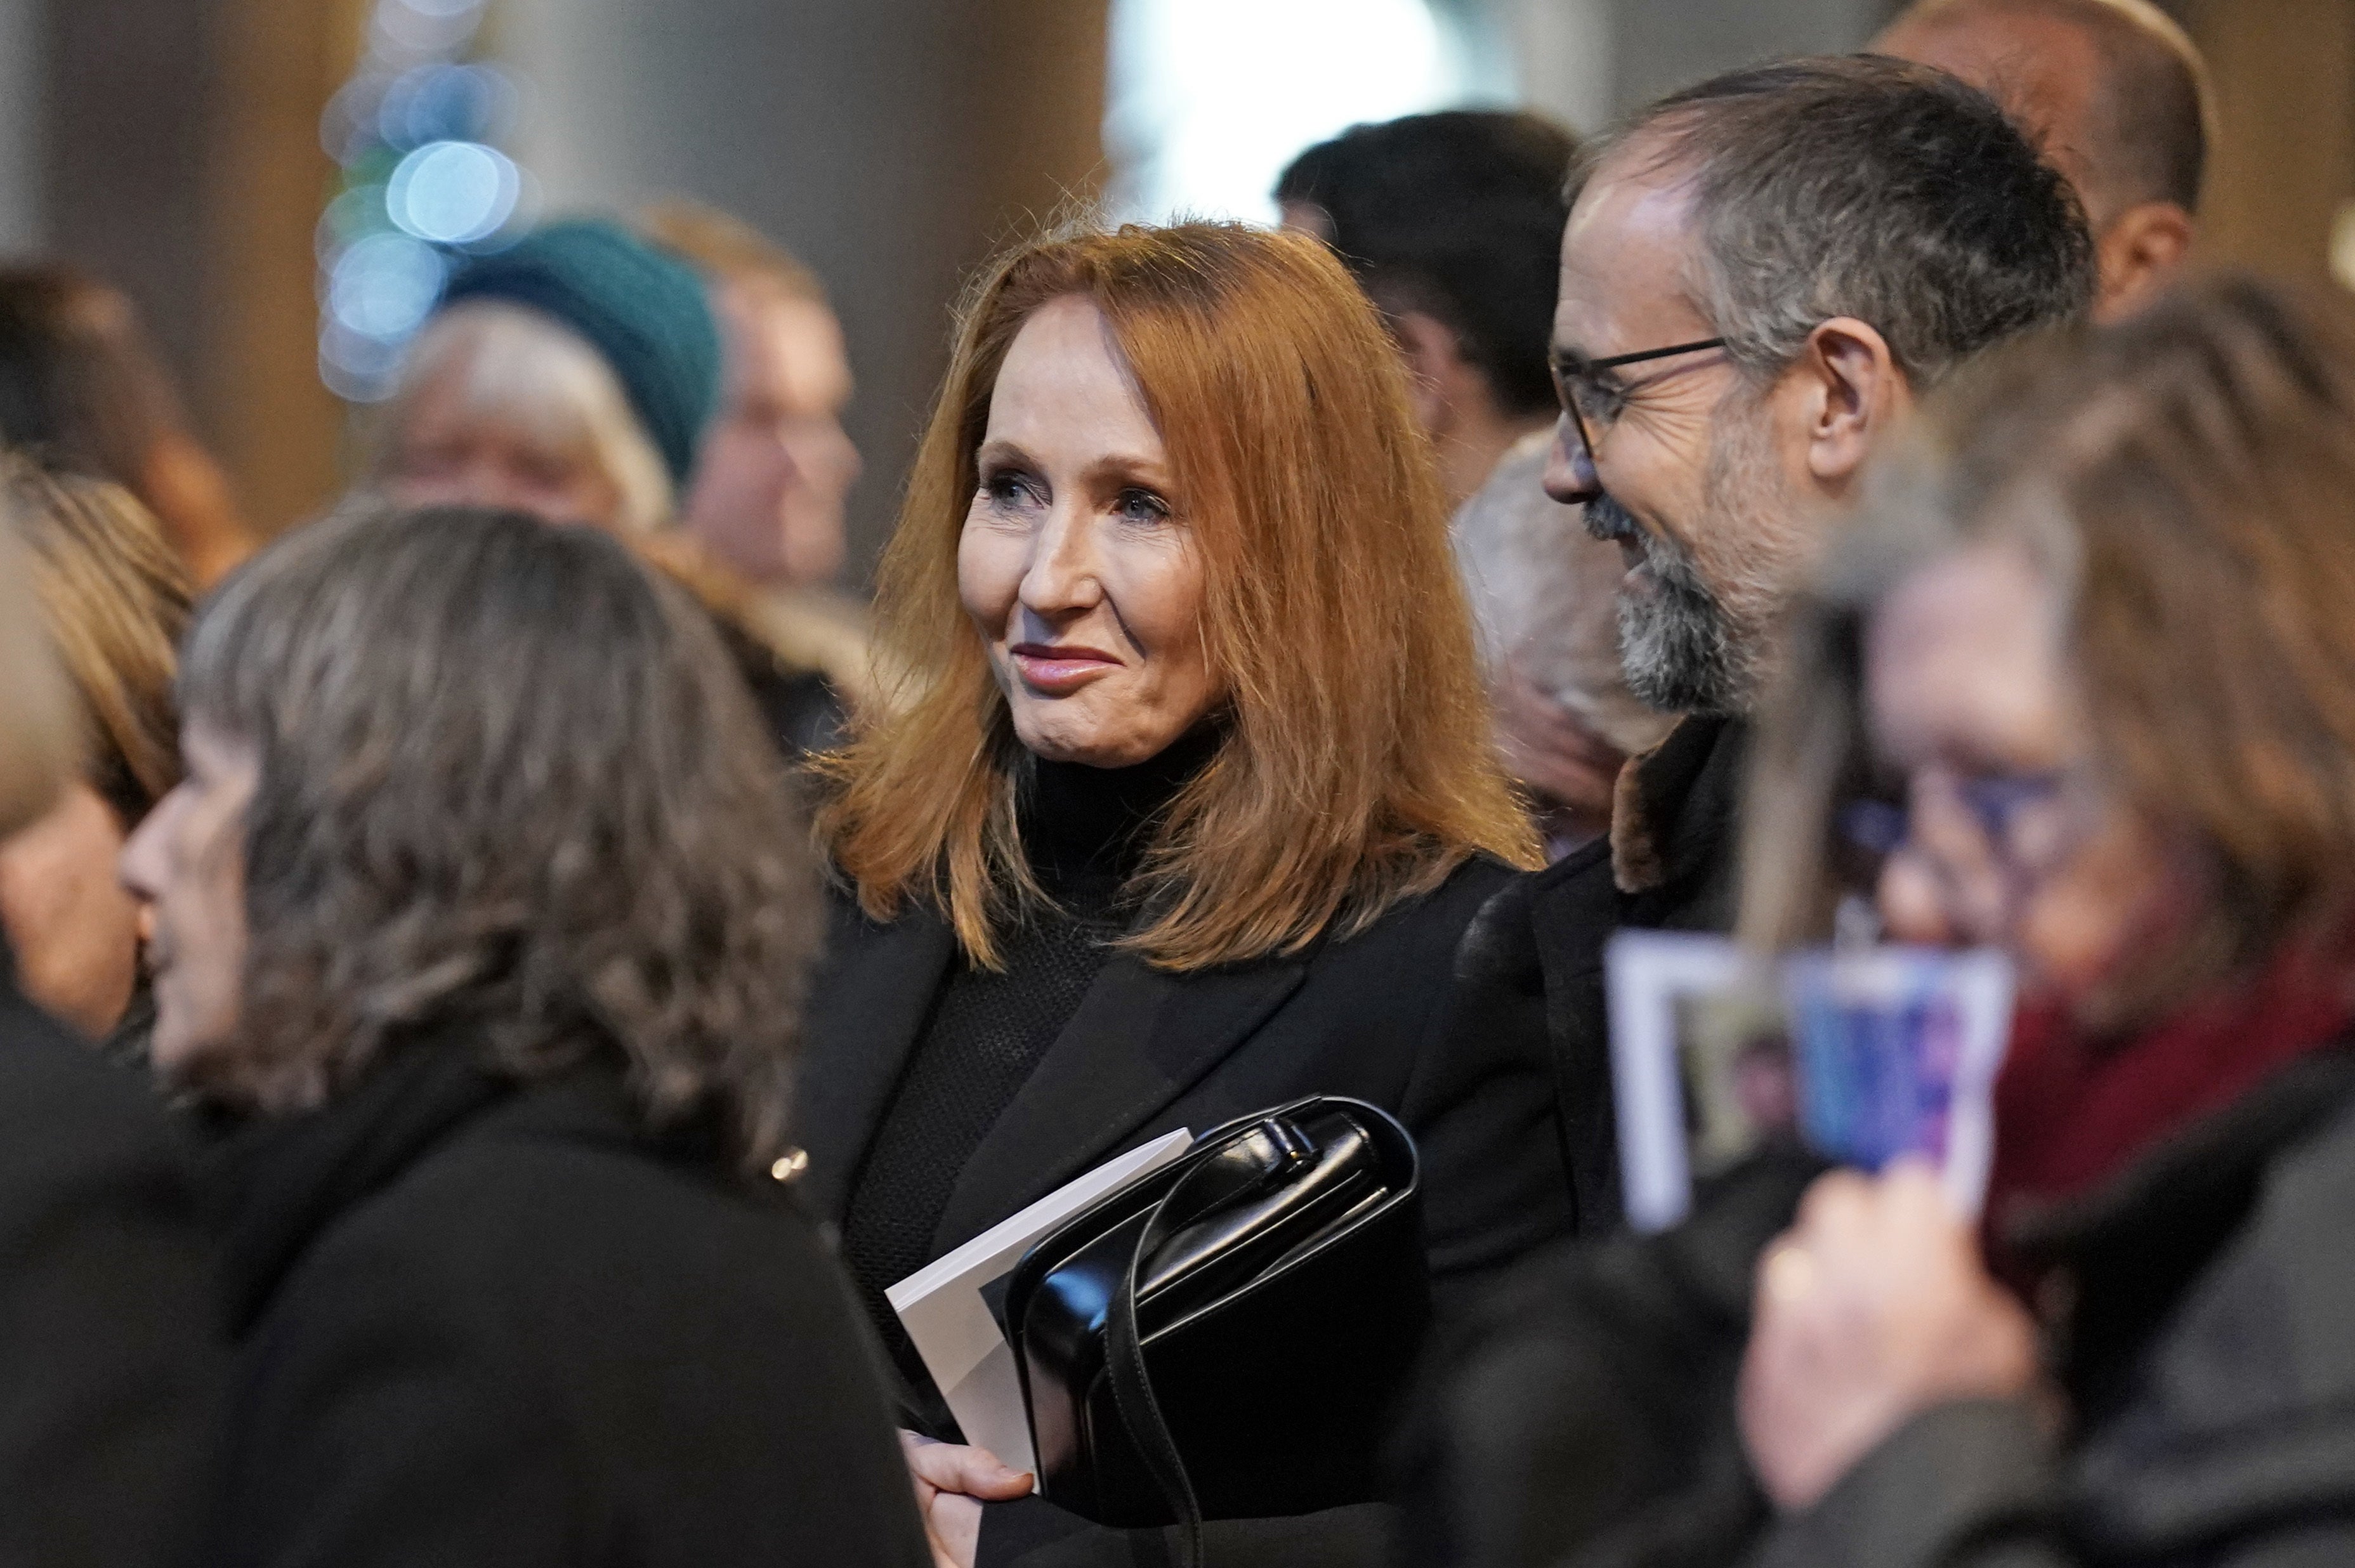
[[[400,431],[424,396],[455,396],[462,414],[509,421],[551,452],[586,457],[622,497],[615,530],[650,532],[671,520],[676,494],[662,452],[612,365],[563,323],[499,299],[464,299],[429,320],[377,424],[370,469],[379,483],[400,461]]]

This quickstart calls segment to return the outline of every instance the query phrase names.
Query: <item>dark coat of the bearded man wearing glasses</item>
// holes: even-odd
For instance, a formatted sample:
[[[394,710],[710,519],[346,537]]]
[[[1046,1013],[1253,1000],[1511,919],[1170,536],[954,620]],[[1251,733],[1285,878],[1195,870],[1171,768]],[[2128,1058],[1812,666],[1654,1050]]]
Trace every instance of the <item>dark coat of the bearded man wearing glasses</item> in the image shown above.
[[[1611,838],[1507,888],[1467,954],[1453,1031],[1550,1041],[1580,1236],[1623,1217],[1604,946],[1620,928],[1733,928],[1747,751],[1743,723],[1686,718],[1620,777]]]

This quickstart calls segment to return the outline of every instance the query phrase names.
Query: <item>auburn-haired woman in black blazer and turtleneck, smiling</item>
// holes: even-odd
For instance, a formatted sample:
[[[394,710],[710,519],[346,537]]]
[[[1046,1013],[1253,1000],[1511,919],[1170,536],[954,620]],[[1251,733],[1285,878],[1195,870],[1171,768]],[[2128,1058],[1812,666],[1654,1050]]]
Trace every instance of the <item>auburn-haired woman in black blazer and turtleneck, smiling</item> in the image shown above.
[[[1006,257],[878,629],[897,690],[827,765],[845,897],[801,1137],[911,1427],[956,1431],[885,1288],[1173,1128],[1309,1092],[1397,1114],[1441,1311],[1568,1229],[1545,1041],[1448,1029],[1535,843],[1397,351],[1319,242],[1128,226]],[[973,1448],[911,1436],[911,1464],[949,1561],[975,1497],[1029,1490]],[[1046,1514],[991,1509],[991,1540],[1081,1528]],[[1210,1526],[1222,1561],[1253,1540],[1307,1561],[1316,1535]]]

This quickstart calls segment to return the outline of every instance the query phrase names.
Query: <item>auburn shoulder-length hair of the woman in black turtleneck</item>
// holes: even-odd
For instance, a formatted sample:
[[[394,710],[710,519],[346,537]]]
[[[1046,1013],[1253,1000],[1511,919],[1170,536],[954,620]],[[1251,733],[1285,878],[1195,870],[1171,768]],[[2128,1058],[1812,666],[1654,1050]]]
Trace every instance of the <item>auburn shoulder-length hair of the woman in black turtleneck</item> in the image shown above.
[[[1170,970],[1288,954],[1429,892],[1470,855],[1535,864],[1488,742],[1446,504],[1397,346],[1340,261],[1241,224],[1123,226],[1006,254],[961,311],[876,584],[883,699],[824,763],[820,824],[874,918],[940,909],[977,963],[1041,899],[1015,829],[1029,753],[956,591],[1006,351],[1050,299],[1104,313],[1203,563],[1222,742],[1128,895]],[[1281,652],[1279,652],[1281,650]]]

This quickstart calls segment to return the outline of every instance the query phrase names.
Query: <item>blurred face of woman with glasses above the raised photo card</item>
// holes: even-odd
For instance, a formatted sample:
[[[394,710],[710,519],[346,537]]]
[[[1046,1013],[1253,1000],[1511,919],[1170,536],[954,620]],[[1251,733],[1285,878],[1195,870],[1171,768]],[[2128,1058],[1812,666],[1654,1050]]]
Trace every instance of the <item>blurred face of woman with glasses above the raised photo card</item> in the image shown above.
[[[1879,878],[1896,939],[2004,946],[2028,994],[2087,1012],[2188,930],[2197,857],[2094,768],[2063,605],[2025,553],[1981,544],[1915,572],[1865,662],[1882,756],[1908,779]]]

